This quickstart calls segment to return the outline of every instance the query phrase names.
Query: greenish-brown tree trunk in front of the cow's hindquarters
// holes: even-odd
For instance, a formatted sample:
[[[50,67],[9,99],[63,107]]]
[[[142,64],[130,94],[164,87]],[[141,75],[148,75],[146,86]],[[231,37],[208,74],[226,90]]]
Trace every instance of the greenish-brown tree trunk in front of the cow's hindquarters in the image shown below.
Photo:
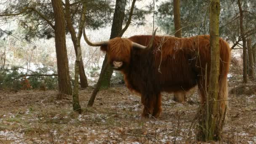
[[[209,77],[209,99],[218,99],[219,90],[219,14],[220,0],[211,0],[210,5],[210,44],[211,44],[211,68]],[[208,140],[218,140],[215,128],[218,115],[218,102],[209,101],[209,133]],[[218,136],[218,135],[217,135]]]

